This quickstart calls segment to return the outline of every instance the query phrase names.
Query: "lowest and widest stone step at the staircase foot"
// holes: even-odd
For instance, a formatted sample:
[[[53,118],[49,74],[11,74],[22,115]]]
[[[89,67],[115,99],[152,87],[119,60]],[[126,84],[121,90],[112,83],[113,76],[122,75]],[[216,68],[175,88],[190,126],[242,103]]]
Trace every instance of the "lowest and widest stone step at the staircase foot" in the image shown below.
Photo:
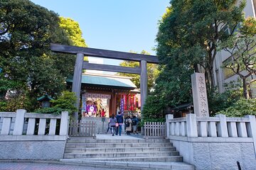
[[[110,161],[92,161],[87,159],[60,159],[60,162],[69,164],[80,164],[80,166],[105,166],[106,168],[117,169],[176,169],[176,170],[194,170],[195,167],[184,162],[110,162]]]

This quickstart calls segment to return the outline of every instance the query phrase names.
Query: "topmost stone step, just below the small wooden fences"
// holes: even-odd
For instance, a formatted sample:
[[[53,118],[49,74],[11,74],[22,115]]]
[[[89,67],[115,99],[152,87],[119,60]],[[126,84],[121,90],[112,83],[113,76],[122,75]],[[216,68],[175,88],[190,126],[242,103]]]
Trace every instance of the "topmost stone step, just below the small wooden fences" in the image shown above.
[[[71,137],[67,141],[68,143],[149,143],[149,142],[170,142],[166,139],[139,139],[139,140],[96,140],[88,139],[86,137]]]

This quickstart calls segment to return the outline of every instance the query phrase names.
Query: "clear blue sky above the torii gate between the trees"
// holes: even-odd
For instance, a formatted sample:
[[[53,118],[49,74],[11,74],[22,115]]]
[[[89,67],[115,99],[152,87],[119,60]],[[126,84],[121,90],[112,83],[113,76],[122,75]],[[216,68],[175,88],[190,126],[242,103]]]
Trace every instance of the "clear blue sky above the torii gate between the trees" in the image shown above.
[[[88,47],[156,55],[158,22],[169,0],[32,0],[78,21]]]

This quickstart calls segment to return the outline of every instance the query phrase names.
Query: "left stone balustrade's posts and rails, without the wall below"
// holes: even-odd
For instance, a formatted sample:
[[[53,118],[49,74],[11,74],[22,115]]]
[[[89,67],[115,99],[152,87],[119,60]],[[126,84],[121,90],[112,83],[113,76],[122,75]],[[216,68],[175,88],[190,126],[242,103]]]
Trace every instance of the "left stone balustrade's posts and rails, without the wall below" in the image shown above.
[[[0,135],[68,135],[68,112],[53,115],[26,113],[26,110],[19,109],[16,113],[1,112],[0,118],[2,122]],[[60,121],[58,123],[60,125],[59,130],[56,130],[57,121]]]

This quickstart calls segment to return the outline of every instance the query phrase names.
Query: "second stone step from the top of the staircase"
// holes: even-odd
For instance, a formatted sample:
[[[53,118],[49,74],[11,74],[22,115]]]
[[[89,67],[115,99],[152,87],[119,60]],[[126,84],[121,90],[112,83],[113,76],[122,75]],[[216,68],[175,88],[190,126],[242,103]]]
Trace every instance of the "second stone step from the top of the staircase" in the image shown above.
[[[172,143],[66,143],[66,148],[85,147],[173,147]]]

